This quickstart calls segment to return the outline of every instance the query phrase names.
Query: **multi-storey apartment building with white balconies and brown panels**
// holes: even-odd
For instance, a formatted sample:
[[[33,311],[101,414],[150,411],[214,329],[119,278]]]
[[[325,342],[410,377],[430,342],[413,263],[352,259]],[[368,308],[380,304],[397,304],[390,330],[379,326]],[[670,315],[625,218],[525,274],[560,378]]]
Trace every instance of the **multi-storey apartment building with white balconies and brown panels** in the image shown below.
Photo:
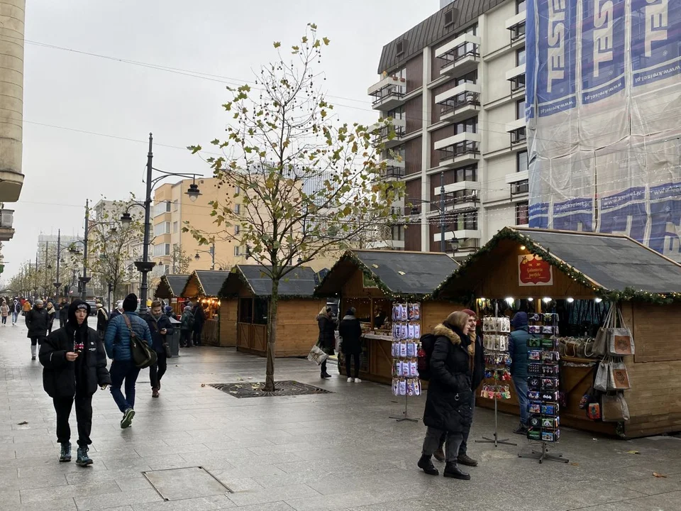
[[[394,137],[376,140],[384,178],[406,184],[395,246],[441,251],[444,224],[446,251],[463,258],[528,224],[525,0],[443,0],[384,46],[378,72],[372,108],[394,119]]]

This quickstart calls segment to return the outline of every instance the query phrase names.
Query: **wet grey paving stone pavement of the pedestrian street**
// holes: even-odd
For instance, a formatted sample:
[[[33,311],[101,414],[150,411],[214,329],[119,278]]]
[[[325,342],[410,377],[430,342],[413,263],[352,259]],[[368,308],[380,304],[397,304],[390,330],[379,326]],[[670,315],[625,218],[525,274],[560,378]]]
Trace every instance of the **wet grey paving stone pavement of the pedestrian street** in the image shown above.
[[[471,480],[445,480],[416,468],[423,424],[388,418],[403,407],[386,385],[346,383],[336,371],[320,380],[316,366],[287,359],[277,360],[278,379],[333,393],[236,399],[201,386],[263,378],[265,361],[233,348],[183,349],[168,361],[159,399],[152,399],[143,370],[130,429],[121,430],[109,391],[97,392],[94,465],[59,463],[55,412],[29,344],[24,326],[0,326],[0,510],[681,509],[681,439],[621,441],[564,430],[560,451],[570,464],[539,465],[518,458],[528,445],[509,434],[519,446],[471,441],[469,454],[480,460]],[[424,402],[410,401],[413,417],[421,416]],[[74,416],[71,424],[75,432]],[[492,412],[477,409],[471,440],[489,434],[493,424]],[[510,432],[516,419],[502,416],[499,424]],[[233,493],[215,495],[214,484],[205,489],[187,471],[168,472],[187,479],[171,486],[173,500],[164,500],[143,473],[198,466]]]

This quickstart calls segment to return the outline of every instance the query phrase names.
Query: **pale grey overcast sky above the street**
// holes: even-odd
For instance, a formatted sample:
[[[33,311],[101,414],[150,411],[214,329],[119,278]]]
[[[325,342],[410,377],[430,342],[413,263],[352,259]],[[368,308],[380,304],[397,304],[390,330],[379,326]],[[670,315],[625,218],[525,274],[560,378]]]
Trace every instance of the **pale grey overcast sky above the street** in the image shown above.
[[[143,196],[146,140],[154,166],[209,175],[187,145],[221,138],[224,83],[106,57],[241,80],[292,45],[306,23],[331,39],[321,69],[341,120],[371,123],[367,87],[382,45],[434,13],[437,0],[28,0],[23,173],[13,240],[4,243],[7,282],[35,258],[38,234],[82,232],[85,199]],[[40,43],[40,44],[36,44]],[[347,105],[343,108],[341,105]],[[55,128],[50,126],[60,126]],[[94,135],[81,133],[79,130]],[[102,136],[107,135],[107,136]],[[121,140],[122,137],[133,141]],[[135,142],[138,141],[138,142]],[[164,147],[160,144],[177,146]]]

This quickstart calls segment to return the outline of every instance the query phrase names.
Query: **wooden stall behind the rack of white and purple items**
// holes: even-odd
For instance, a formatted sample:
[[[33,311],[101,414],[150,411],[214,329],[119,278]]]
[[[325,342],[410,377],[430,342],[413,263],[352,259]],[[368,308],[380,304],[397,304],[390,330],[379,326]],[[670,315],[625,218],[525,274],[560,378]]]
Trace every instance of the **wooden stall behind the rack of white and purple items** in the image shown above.
[[[443,253],[407,251],[348,251],[317,287],[316,295],[339,296],[339,316],[355,307],[362,324],[360,377],[392,383],[392,305],[419,303],[422,333],[463,305],[430,300],[433,290],[453,273],[456,263]],[[345,374],[343,354],[338,370]]]

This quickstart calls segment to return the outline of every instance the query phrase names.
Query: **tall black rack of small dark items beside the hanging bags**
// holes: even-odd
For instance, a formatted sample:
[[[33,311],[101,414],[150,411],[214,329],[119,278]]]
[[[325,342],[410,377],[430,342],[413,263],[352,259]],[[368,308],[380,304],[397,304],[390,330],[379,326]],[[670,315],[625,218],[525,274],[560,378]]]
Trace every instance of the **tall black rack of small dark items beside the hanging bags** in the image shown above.
[[[541,463],[569,460],[561,454],[548,454],[549,444],[560,439],[560,353],[558,352],[558,314],[528,314],[527,341],[527,439],[541,443],[541,451],[519,454]]]

